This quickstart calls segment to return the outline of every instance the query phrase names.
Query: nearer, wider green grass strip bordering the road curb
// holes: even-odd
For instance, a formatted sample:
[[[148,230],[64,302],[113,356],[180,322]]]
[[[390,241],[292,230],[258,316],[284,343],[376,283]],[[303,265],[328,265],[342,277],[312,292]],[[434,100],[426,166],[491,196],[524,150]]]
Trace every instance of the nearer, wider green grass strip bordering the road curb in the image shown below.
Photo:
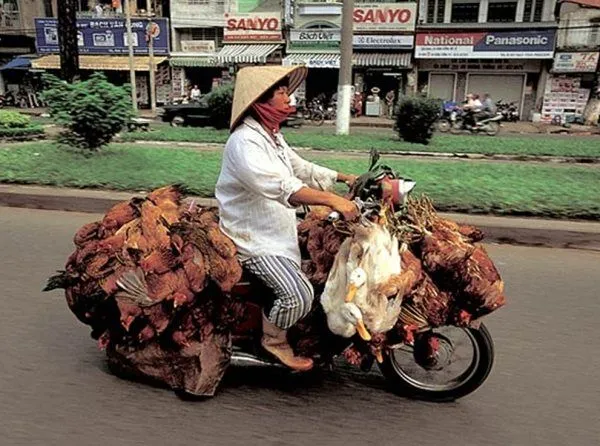
[[[322,165],[360,174],[363,159],[316,156]],[[600,169],[526,163],[385,160],[417,181],[440,210],[558,218],[600,218]],[[0,149],[0,181],[63,187],[149,190],[183,183],[213,196],[220,151],[118,145],[92,157],[55,145],[31,143]]]

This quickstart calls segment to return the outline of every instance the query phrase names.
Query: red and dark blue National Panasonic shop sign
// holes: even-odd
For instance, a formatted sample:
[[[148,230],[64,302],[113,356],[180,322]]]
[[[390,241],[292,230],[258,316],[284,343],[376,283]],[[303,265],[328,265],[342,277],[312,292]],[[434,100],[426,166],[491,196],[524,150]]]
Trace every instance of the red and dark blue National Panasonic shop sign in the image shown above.
[[[421,59],[552,59],[556,30],[417,33]]]

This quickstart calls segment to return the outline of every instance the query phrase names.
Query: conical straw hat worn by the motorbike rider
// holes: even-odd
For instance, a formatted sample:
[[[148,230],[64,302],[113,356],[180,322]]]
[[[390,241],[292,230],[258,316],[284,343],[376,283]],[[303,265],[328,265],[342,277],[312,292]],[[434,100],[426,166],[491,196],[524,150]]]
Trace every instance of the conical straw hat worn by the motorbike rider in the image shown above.
[[[308,70],[303,66],[242,68],[235,80],[233,106],[231,108],[231,125],[229,128],[233,130],[250,106],[273,85],[289,77],[288,91],[291,94],[306,78],[307,73]]]

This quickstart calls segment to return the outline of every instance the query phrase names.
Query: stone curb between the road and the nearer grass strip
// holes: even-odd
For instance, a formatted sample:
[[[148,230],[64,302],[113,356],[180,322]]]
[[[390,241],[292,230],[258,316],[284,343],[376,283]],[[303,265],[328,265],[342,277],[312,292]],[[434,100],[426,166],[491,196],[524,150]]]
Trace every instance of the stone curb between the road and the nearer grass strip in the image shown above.
[[[111,206],[144,191],[114,192],[63,189],[43,186],[0,184],[0,206],[103,214]],[[216,200],[189,197],[201,206],[216,206]],[[440,213],[445,218],[481,228],[487,243],[583,249],[600,252],[600,223],[540,218],[492,217]]]

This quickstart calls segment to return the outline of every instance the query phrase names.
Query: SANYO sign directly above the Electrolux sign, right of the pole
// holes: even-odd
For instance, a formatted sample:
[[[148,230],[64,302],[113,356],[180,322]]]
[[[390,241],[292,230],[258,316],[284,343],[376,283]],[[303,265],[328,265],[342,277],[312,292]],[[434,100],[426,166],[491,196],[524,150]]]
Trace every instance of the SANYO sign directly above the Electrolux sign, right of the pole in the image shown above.
[[[355,30],[415,29],[416,3],[374,3],[354,8]]]

